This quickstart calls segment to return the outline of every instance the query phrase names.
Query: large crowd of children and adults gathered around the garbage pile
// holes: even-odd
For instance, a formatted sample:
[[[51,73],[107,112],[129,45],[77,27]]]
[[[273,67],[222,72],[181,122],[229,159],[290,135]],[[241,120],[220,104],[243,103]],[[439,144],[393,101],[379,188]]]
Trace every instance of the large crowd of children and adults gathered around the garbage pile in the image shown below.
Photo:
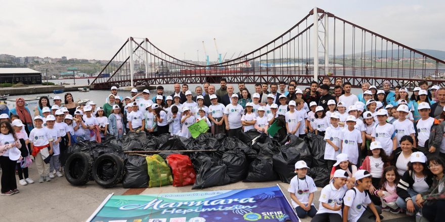
[[[204,83],[192,93],[187,84],[176,83],[171,95],[157,86],[154,96],[135,88],[125,97],[113,86],[102,106],[94,101],[77,104],[70,93],[63,104],[59,96],[53,105],[42,96],[33,120],[25,100],[17,98],[10,115],[0,116],[1,195],[19,192],[16,169],[20,185],[33,183],[26,168],[30,155],[39,183],[62,177],[66,149],[81,139],[101,142],[107,135],[120,138],[130,131],[191,137],[188,127],[198,121],[205,122],[212,134],[269,134],[269,127],[284,116],[288,134],[324,138],[324,158],[331,172],[317,211],[307,165],[295,164],[297,176],[289,192],[299,217],[378,221],[380,210],[386,210],[423,213],[429,221],[439,221],[437,209],[445,209],[445,88],[420,81],[411,93],[384,81],[381,89],[364,83],[363,92],[353,94],[351,83],[342,79],[331,85],[325,77],[307,88],[298,88],[292,80],[257,83],[255,92],[249,92],[238,83],[235,93],[222,78],[218,89]]]

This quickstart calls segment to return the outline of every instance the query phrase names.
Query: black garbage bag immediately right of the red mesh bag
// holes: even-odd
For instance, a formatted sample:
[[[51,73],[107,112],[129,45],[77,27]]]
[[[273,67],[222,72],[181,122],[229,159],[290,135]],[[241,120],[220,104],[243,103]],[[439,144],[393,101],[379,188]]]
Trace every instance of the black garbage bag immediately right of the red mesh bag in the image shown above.
[[[202,161],[192,189],[203,189],[230,183],[226,164],[222,163],[222,161],[215,161],[211,157],[205,157]]]

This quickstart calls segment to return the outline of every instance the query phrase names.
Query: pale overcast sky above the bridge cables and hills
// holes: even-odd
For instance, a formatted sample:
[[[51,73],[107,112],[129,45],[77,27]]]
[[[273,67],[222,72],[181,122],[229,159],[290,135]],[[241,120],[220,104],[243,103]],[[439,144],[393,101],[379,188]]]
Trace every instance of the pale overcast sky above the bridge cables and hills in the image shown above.
[[[253,50],[315,6],[413,48],[445,50],[445,1],[2,1],[0,53],[109,60],[129,37],[202,61]],[[227,59],[227,58],[226,58]]]

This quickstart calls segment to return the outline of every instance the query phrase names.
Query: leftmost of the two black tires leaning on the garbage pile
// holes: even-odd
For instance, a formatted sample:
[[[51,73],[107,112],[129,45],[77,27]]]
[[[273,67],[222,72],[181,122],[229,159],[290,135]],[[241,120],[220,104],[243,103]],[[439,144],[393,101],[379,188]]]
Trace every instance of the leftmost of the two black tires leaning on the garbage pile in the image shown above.
[[[65,163],[65,178],[75,186],[81,186],[90,181],[93,169],[93,157],[84,152],[71,154]]]

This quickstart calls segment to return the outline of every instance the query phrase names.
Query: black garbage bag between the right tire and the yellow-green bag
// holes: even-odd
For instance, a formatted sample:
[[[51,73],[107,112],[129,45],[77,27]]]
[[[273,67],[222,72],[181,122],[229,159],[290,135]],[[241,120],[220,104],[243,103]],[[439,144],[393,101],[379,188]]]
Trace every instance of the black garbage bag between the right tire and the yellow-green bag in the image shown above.
[[[125,177],[122,181],[123,188],[148,187],[147,160],[144,156],[129,155],[125,162]]]

